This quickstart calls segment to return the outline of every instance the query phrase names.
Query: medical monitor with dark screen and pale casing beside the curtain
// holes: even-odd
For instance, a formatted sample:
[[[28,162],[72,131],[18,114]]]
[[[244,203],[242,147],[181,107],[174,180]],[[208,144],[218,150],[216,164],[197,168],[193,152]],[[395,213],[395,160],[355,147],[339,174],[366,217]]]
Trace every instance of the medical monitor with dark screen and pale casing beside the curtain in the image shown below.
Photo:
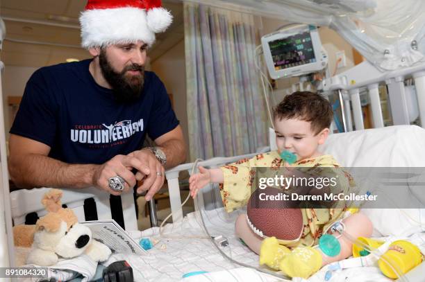
[[[270,77],[301,76],[326,67],[326,54],[315,26],[298,25],[261,38]]]

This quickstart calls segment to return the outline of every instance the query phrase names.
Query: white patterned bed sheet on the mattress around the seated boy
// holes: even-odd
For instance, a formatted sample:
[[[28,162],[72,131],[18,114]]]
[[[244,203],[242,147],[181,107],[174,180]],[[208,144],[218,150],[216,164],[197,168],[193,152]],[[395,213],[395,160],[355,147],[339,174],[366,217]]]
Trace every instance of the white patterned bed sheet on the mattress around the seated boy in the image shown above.
[[[235,218],[240,212],[228,214],[224,209],[215,209],[203,211],[203,215],[211,236],[222,235],[228,239],[230,245],[222,247],[226,254],[231,255],[235,261],[256,267],[258,266],[258,256],[251,252],[248,247],[242,245],[234,235]],[[167,224],[164,233],[172,234],[171,236],[206,236],[201,226],[199,213],[195,212],[188,214],[181,222]],[[149,255],[147,256],[115,254],[111,258],[111,261],[126,259],[133,266],[135,281],[284,281],[252,268],[231,263],[219,253],[211,240],[205,238],[160,238],[158,227],[147,229],[136,235],[138,238],[156,238],[160,242],[148,251]],[[425,253],[424,232],[415,233],[410,236],[410,239],[412,243],[419,246],[422,253]],[[326,270],[327,267],[323,267],[308,281],[324,281]],[[208,273],[182,279],[183,274],[198,271]],[[293,281],[306,280],[293,279]],[[392,280],[383,276],[378,267],[355,267],[333,272],[329,281],[378,282]]]

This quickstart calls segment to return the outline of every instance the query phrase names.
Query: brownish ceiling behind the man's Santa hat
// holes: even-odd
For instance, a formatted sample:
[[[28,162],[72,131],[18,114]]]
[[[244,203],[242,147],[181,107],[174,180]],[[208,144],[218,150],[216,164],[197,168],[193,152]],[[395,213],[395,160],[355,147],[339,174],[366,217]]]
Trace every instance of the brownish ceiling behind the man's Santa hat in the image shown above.
[[[80,47],[78,15],[86,1],[81,0],[1,0],[0,16],[6,24],[1,60],[6,66],[42,67],[82,60],[90,54]],[[149,50],[151,62],[184,38],[181,1],[163,1],[172,12],[172,26],[156,35]],[[30,43],[31,42],[31,43]]]

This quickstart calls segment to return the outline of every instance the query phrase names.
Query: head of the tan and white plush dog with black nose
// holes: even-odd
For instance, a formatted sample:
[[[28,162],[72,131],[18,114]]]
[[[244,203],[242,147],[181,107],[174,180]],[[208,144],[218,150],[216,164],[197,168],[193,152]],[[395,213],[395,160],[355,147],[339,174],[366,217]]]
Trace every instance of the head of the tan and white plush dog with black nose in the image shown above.
[[[63,209],[60,199],[63,192],[51,189],[42,204],[48,211],[35,225],[17,225],[13,228],[15,246],[31,247],[26,263],[51,266],[58,258],[74,258],[83,253],[93,261],[106,261],[110,249],[92,239],[92,232],[84,224],[78,223],[74,211]]]

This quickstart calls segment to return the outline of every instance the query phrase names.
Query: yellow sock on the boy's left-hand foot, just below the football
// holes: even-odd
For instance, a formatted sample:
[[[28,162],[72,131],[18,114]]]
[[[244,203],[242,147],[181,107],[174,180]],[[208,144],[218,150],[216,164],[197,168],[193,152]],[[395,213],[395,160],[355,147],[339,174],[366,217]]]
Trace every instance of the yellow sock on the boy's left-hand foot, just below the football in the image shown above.
[[[261,243],[260,265],[267,265],[274,270],[279,270],[282,258],[290,252],[290,249],[278,243],[276,237],[265,238]]]

